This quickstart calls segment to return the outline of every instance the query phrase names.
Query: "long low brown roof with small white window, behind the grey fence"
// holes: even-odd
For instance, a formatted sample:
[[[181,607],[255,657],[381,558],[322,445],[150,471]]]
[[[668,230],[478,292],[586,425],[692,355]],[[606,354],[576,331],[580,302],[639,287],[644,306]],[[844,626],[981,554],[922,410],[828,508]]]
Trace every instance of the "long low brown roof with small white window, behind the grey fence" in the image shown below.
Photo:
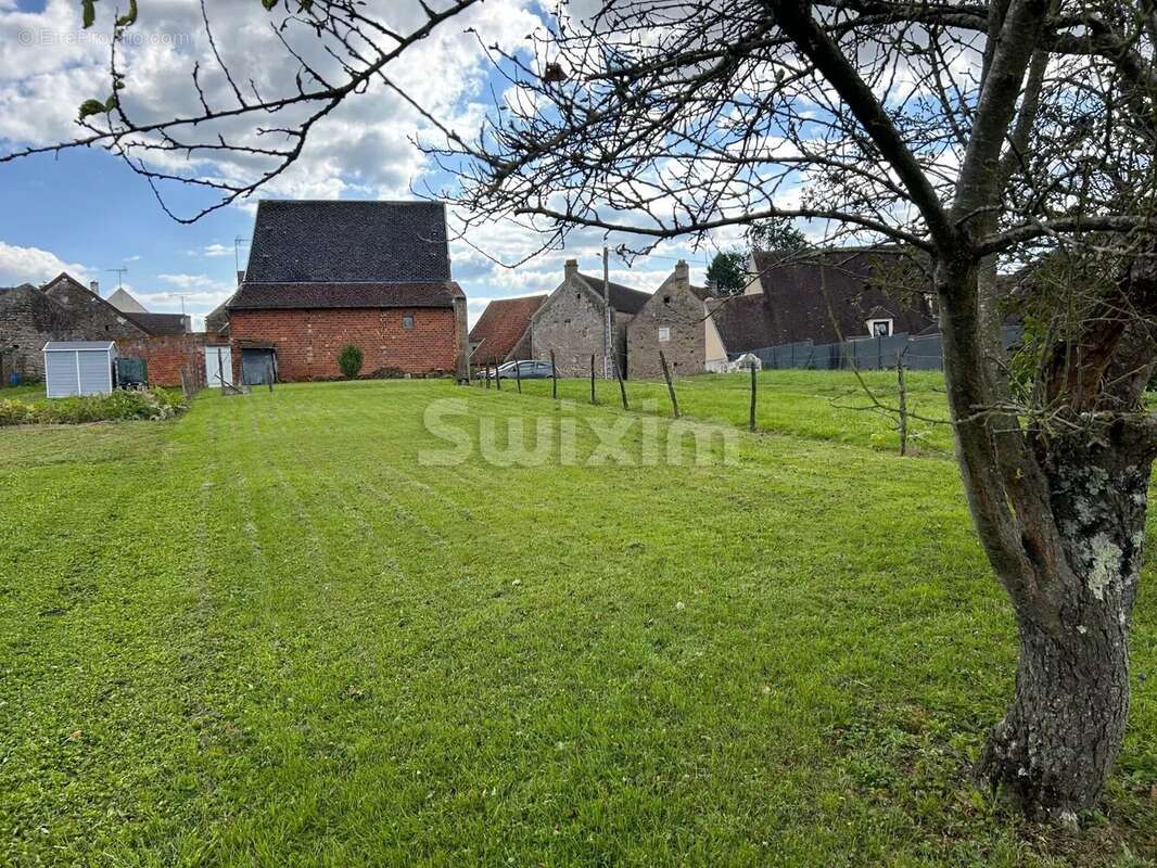
[[[934,323],[896,251],[756,251],[754,262],[762,293],[724,302],[716,317],[729,353],[864,337],[876,309],[894,311],[898,334],[916,334]]]

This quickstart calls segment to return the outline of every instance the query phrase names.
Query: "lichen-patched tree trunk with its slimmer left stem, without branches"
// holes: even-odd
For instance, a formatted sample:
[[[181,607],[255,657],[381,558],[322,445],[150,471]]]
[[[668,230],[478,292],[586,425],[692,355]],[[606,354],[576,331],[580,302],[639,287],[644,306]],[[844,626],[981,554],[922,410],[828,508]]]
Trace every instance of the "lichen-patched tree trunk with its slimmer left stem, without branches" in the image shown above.
[[[1150,458],[1125,432],[1047,437],[1000,411],[977,271],[938,274],[961,478],[1019,634],[1016,693],[975,771],[1026,816],[1075,829],[1125,733]]]

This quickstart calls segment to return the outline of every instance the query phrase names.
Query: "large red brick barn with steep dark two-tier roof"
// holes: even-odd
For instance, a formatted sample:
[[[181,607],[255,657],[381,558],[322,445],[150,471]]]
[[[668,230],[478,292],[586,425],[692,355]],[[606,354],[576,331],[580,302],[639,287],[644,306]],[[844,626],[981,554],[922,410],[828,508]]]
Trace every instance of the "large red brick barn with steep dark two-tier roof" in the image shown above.
[[[346,344],[362,376],[465,375],[466,296],[441,203],[263,200],[226,308],[243,380],[265,365],[282,381],[339,377]]]

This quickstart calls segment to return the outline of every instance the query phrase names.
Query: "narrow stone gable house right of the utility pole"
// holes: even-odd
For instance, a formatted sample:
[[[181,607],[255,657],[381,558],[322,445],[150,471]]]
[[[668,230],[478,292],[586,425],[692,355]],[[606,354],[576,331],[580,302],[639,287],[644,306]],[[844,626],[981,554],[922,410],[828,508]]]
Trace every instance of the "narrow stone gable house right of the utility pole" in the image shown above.
[[[712,353],[720,352],[709,307],[714,299],[710,290],[691,282],[691,270],[680,259],[627,326],[632,378],[663,376],[659,352],[672,376],[706,370]]]

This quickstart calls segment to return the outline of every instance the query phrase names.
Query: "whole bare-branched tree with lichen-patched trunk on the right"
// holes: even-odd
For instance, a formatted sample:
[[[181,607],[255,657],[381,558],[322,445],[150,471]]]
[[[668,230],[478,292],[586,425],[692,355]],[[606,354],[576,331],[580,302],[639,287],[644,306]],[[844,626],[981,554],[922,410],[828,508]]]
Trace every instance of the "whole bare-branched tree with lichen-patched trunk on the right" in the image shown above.
[[[108,147],[150,182],[231,201],[292,164],[339,104],[392,87],[391,61],[471,0],[405,31],[351,0],[265,5],[300,61],[288,87],[243,83],[214,46],[200,108],[140,120],[115,56],[112,96],[86,104],[84,135],[61,146]],[[447,124],[427,145],[472,220],[519,219],[544,244],[572,227],[646,248],[803,220],[828,244],[930,263],[960,473],[1019,626],[1016,694],[978,774],[1066,825],[1101,792],[1128,714],[1157,449],[1143,406],[1155,43],[1157,0],[574,0],[529,50],[493,52],[506,87],[477,137]],[[164,168],[230,152],[267,165],[246,181]],[[1001,273],[1026,263],[1002,297]],[[1026,324],[1011,360],[1008,304]]]

